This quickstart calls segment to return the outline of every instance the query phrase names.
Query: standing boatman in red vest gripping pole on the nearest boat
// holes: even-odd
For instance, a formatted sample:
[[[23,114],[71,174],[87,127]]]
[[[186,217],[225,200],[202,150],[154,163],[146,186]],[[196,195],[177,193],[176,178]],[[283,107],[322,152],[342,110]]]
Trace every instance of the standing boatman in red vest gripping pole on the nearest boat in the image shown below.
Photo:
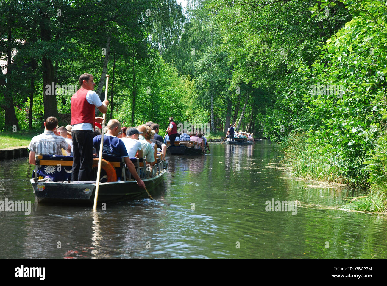
[[[73,140],[73,166],[71,181],[90,181],[93,164],[93,132],[95,107],[102,113],[108,111],[108,100],[101,102],[94,90],[94,77],[84,73],[79,77],[80,89],[71,97],[71,136]],[[102,123],[102,122],[101,122]]]

